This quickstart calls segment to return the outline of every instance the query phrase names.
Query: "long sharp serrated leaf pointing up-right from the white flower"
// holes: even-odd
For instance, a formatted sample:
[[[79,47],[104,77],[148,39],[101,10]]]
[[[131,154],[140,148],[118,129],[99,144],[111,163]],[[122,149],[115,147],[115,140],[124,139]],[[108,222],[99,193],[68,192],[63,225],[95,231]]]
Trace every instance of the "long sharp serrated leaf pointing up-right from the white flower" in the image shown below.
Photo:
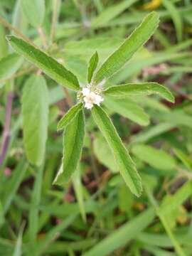
[[[159,23],[159,15],[152,12],[144,21],[134,30],[122,46],[120,46],[109,58],[102,64],[95,75],[95,83],[110,78],[141,48],[154,33]]]

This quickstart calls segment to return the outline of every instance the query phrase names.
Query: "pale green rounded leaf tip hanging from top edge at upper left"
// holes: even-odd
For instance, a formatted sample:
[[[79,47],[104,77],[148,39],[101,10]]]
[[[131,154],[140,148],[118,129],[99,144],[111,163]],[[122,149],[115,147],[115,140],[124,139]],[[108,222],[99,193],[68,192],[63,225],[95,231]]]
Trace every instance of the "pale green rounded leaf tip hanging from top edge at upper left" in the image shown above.
[[[46,11],[45,0],[21,0],[21,7],[28,23],[33,27],[43,24]]]

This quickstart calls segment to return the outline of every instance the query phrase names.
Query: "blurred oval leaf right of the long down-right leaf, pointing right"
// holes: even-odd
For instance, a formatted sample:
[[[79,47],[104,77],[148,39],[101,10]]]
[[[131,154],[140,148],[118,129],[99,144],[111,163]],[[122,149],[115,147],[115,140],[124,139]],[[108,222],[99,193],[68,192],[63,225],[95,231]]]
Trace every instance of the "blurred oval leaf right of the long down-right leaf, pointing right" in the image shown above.
[[[176,167],[174,158],[161,149],[155,149],[152,146],[146,146],[144,144],[137,144],[132,147],[132,152],[139,159],[156,169],[170,170]]]

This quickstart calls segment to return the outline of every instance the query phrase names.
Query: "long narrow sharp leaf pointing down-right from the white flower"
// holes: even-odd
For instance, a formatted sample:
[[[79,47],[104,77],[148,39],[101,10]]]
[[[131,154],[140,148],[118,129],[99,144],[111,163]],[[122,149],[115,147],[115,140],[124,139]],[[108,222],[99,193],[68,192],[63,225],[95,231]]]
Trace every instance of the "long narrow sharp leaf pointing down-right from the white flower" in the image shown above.
[[[127,183],[132,193],[140,196],[142,193],[141,178],[126,147],[122,144],[122,140],[117,134],[110,117],[107,116],[101,107],[96,105],[92,108],[92,117],[112,149],[114,159],[117,162],[120,174],[122,174],[125,183]]]

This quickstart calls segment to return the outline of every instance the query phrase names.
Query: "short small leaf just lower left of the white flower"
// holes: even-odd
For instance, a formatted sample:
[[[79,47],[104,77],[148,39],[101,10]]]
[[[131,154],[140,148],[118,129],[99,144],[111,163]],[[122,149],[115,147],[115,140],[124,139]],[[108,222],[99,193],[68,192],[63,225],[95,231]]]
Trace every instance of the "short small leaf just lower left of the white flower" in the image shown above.
[[[61,129],[65,129],[65,127],[73,120],[76,114],[82,110],[82,102],[73,106],[68,110],[68,112],[60,119],[58,122],[58,131]]]

